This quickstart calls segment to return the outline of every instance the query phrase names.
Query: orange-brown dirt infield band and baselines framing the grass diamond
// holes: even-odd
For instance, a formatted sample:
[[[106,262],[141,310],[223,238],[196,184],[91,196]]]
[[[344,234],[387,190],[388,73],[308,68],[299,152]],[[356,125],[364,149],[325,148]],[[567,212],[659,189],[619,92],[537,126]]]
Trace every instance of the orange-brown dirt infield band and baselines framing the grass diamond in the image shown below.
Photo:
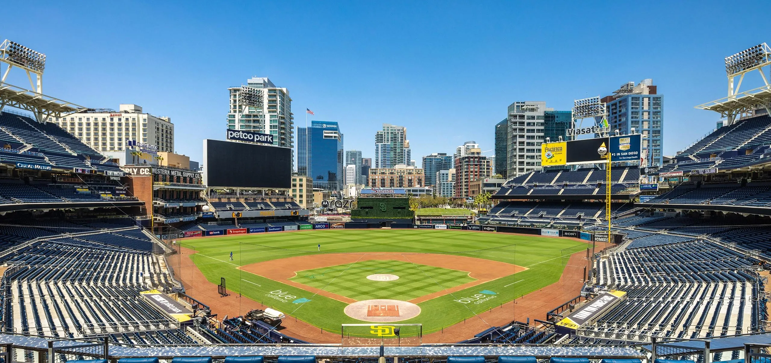
[[[419,304],[423,301],[429,301],[435,297],[440,297],[456,291],[465,290],[466,288],[473,287],[478,284],[484,284],[488,281],[493,281],[500,277],[507,277],[510,274],[516,274],[517,272],[527,270],[527,267],[517,266],[516,264],[507,264],[505,262],[486,260],[477,257],[456,256],[453,254],[415,254],[398,252],[308,254],[305,256],[279,258],[276,260],[258,262],[256,264],[247,264],[238,268],[241,268],[242,271],[246,271],[251,274],[256,274],[270,280],[281,282],[282,284],[288,284],[301,288],[313,294],[331,297],[337,301],[342,301],[346,304],[352,304],[356,302],[355,299],[338,294],[332,294],[329,291],[324,291],[316,287],[310,287],[308,285],[300,284],[289,279],[291,277],[297,276],[297,271],[312,270],[322,267],[332,267],[341,264],[351,264],[365,260],[400,260],[414,264],[443,267],[450,270],[468,271],[469,276],[476,279],[476,281],[471,281],[466,284],[450,287],[442,291],[436,291],[432,294],[416,297],[409,301],[412,304]]]

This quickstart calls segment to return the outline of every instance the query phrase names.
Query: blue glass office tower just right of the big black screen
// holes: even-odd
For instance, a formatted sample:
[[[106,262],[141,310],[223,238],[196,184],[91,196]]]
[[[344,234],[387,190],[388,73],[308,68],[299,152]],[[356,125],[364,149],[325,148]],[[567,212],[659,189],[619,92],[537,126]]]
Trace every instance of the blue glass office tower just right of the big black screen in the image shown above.
[[[343,138],[338,123],[311,121],[298,127],[298,174],[310,177],[315,189],[342,190],[344,180]]]

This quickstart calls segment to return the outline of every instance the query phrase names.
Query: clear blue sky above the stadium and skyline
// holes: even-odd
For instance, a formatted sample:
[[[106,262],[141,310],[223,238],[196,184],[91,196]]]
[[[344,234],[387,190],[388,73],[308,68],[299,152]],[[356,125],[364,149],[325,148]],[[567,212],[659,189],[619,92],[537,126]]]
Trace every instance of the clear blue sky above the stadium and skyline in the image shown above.
[[[513,101],[606,96],[651,78],[665,95],[665,154],[708,132],[723,58],[769,32],[731,2],[5,2],[0,38],[48,55],[44,92],[87,107],[170,116],[177,153],[224,139],[227,87],[268,76],[295,125],[337,121],[371,157],[382,123],[412,158],[466,140],[493,149]],[[15,83],[25,85],[26,80]],[[742,89],[757,86],[745,82]],[[296,145],[296,140],[295,140]],[[492,154],[492,153],[490,153]]]

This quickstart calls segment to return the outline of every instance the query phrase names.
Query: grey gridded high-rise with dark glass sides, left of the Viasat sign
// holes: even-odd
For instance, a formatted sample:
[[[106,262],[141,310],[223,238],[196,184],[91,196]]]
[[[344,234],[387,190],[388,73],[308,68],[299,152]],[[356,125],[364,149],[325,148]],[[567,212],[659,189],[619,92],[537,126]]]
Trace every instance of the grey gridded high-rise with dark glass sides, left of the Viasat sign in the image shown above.
[[[513,178],[541,170],[540,144],[547,137],[551,141],[564,138],[571,121],[570,111],[555,111],[544,101],[517,101],[509,105],[507,119],[495,127],[496,173]]]

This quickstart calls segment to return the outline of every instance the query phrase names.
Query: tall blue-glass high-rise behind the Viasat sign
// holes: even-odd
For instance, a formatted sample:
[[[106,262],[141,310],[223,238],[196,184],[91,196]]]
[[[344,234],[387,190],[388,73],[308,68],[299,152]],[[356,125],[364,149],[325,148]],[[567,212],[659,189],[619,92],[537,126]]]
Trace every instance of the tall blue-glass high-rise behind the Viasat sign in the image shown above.
[[[611,135],[640,133],[642,156],[648,166],[663,165],[664,159],[664,96],[652,79],[627,82],[602,98],[608,112]],[[632,131],[634,129],[634,132]]]

